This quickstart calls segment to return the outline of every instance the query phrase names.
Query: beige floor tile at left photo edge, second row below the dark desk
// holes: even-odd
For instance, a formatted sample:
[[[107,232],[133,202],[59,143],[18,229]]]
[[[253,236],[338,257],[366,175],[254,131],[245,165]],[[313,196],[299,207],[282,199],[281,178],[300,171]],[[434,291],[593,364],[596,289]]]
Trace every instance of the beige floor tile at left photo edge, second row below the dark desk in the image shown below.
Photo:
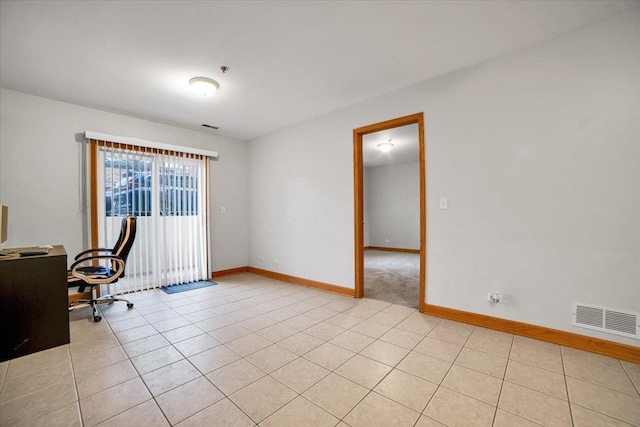
[[[52,386],[73,377],[71,360],[56,363],[41,369],[25,373],[22,376],[10,376],[0,383],[0,403],[6,403],[29,393]]]

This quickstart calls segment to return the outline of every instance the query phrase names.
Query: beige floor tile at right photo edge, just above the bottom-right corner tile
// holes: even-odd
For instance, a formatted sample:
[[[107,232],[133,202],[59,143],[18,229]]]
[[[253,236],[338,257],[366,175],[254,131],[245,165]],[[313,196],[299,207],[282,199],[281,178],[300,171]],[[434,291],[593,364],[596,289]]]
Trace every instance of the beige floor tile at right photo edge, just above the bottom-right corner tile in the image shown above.
[[[569,401],[596,412],[640,425],[640,398],[567,377]]]

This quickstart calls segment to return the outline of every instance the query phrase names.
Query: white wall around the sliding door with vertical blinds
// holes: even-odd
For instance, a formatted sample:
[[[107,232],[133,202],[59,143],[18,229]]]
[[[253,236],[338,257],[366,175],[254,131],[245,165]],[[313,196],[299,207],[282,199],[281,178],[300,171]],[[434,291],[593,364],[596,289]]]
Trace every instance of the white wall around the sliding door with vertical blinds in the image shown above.
[[[63,244],[70,260],[83,249],[76,134],[85,130],[219,151],[211,163],[210,270],[247,265],[245,142],[7,89],[0,92],[0,202],[10,207],[4,247]]]

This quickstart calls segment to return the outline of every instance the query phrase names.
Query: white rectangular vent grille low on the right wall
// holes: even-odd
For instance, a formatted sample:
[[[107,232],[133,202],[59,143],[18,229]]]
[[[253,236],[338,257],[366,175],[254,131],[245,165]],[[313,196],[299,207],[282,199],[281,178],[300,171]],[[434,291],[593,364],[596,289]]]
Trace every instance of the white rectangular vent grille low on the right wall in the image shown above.
[[[640,339],[640,313],[633,311],[574,302],[571,324]]]

